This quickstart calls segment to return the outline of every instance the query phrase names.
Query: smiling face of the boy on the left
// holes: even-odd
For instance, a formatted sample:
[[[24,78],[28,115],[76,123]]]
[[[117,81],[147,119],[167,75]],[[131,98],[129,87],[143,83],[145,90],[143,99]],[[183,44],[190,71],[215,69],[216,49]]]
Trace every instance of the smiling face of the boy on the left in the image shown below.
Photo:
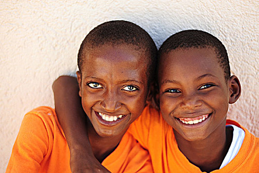
[[[101,136],[124,134],[142,113],[148,94],[143,53],[130,45],[102,45],[77,72],[82,106]]]

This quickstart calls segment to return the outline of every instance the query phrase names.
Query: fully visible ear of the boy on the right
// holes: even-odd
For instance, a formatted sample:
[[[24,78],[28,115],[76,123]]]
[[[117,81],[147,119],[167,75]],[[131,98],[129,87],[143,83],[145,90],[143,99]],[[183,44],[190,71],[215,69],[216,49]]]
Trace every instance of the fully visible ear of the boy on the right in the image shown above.
[[[231,76],[228,83],[229,87],[229,104],[236,102],[241,94],[241,85],[236,76]]]

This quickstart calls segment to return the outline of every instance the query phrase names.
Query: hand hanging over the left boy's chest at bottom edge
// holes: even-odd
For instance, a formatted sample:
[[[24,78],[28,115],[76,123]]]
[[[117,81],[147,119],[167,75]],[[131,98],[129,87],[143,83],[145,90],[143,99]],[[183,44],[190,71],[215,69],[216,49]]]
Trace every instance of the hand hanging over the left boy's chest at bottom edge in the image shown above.
[[[93,155],[82,150],[73,150],[70,156],[72,173],[111,173]]]

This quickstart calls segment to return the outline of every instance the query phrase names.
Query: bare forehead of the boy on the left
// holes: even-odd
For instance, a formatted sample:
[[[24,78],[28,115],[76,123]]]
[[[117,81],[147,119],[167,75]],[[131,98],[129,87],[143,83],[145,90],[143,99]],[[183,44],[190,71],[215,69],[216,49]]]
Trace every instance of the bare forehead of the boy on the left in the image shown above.
[[[102,45],[85,53],[82,74],[139,78],[147,71],[144,56],[144,51],[136,50],[132,45]]]

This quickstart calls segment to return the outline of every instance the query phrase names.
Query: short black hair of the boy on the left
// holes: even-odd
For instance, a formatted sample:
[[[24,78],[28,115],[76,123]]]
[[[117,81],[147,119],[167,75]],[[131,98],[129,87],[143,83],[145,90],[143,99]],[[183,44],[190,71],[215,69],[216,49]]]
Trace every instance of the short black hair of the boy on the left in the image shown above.
[[[82,69],[85,54],[92,48],[97,48],[107,43],[112,46],[120,44],[133,45],[136,50],[142,51],[145,55],[144,62],[148,65],[148,82],[154,76],[157,64],[157,48],[154,41],[140,26],[124,20],[102,23],[87,34],[77,55],[79,71]]]

